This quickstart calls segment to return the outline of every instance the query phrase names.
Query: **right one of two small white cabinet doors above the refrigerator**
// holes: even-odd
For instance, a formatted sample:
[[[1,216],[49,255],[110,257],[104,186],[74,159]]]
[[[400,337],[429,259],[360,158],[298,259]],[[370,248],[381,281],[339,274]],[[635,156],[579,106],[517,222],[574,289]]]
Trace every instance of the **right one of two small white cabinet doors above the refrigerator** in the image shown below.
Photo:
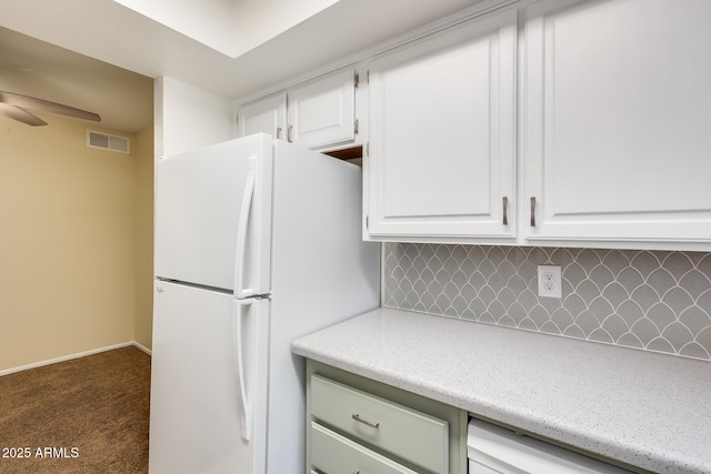
[[[289,90],[288,140],[320,149],[356,139],[356,71],[347,69]]]

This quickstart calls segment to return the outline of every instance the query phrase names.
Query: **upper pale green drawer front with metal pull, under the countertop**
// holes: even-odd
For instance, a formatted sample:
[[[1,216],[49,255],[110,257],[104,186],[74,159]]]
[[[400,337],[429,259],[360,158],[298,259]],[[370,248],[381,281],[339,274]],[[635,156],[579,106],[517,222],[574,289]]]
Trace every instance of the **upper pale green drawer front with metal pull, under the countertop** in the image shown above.
[[[311,415],[432,472],[449,472],[449,422],[311,376]]]

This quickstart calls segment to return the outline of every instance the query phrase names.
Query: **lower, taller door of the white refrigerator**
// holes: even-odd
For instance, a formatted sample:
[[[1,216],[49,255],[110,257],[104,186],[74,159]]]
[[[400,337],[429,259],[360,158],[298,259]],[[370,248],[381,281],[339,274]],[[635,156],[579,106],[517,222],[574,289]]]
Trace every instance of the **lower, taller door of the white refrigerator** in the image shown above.
[[[149,465],[151,474],[263,472],[269,301],[241,310],[241,364],[237,375],[238,302],[228,293],[156,282]],[[243,420],[242,390],[248,414]],[[249,441],[241,433],[249,425]],[[257,427],[257,428],[256,428]]]

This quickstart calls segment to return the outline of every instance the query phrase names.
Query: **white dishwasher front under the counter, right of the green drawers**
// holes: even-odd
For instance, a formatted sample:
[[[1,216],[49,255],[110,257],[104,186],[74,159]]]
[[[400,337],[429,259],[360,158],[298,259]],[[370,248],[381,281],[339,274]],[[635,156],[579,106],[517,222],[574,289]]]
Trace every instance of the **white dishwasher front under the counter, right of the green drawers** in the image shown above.
[[[469,474],[629,474],[593,460],[481,420],[469,422]]]

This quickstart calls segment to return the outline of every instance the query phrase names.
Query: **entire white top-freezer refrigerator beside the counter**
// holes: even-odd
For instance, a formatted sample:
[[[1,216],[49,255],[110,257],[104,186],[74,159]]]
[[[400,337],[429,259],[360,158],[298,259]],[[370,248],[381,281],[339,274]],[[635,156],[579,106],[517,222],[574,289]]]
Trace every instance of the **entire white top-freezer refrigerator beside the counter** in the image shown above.
[[[303,473],[291,342],[380,302],[360,169],[260,133],[156,174],[150,473]]]

